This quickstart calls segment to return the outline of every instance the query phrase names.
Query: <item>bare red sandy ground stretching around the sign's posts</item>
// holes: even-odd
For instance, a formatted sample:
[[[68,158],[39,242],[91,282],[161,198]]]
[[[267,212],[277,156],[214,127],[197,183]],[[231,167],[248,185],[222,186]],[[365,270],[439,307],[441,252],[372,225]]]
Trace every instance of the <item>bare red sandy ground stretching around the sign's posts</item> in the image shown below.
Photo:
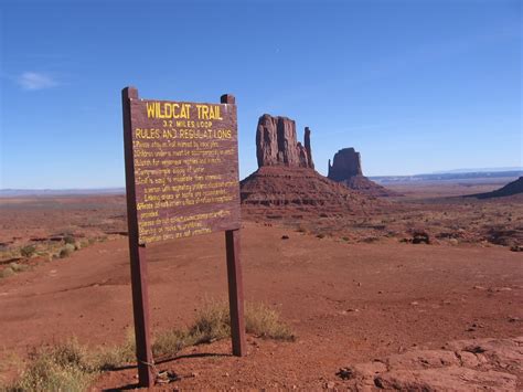
[[[223,242],[213,234],[150,246],[153,331],[189,324],[206,298],[225,298]],[[249,337],[245,358],[232,357],[228,341],[188,349],[159,364],[182,375],[169,388],[343,388],[335,373],[352,363],[522,332],[522,256],[506,247],[349,244],[252,222],[242,246],[246,299],[279,309],[298,340]],[[0,362],[71,336],[121,342],[132,317],[127,239],[0,279]],[[132,385],[135,375],[109,372],[97,386]]]

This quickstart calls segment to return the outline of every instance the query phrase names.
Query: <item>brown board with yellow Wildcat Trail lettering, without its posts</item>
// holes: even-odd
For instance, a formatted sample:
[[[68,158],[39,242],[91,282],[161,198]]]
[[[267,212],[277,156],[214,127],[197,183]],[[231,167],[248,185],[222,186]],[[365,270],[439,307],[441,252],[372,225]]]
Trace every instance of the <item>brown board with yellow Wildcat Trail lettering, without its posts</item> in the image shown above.
[[[236,105],[130,98],[139,243],[239,229]]]

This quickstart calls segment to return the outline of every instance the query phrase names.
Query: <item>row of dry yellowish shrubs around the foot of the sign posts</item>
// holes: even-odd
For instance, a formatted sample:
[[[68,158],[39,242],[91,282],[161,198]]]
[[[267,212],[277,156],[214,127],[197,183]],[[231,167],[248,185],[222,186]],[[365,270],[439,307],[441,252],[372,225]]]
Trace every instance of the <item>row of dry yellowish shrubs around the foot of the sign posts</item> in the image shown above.
[[[248,333],[260,338],[295,340],[295,335],[279,319],[278,312],[265,305],[246,305],[245,327]],[[156,358],[173,357],[185,347],[224,339],[230,335],[228,304],[209,303],[190,327],[159,333],[154,338],[152,352]],[[75,339],[46,347],[31,353],[20,378],[10,385],[0,386],[0,392],[85,391],[100,372],[134,362],[135,351],[132,331],[128,332],[124,345],[94,351]]]

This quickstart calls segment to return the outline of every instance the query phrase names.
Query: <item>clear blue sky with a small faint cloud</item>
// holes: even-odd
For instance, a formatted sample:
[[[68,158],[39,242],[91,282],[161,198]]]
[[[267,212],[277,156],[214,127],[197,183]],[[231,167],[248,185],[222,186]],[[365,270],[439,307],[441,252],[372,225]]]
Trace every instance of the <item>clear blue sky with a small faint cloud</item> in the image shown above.
[[[522,7],[491,1],[6,1],[0,188],[124,186],[120,91],[264,113],[367,176],[522,162]]]

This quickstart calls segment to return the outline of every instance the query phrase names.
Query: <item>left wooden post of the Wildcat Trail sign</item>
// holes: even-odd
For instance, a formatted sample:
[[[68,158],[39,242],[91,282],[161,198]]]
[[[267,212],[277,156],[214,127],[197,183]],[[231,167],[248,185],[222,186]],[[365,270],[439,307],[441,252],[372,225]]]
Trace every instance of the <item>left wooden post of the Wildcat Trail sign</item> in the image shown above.
[[[124,110],[124,144],[126,160],[127,225],[129,231],[129,256],[131,267],[132,311],[135,315],[136,357],[140,386],[152,386],[152,351],[149,339],[149,290],[147,286],[146,246],[138,243],[138,216],[135,190],[135,160],[132,153],[132,127],[130,99],[138,99],[135,87],[121,91]]]

